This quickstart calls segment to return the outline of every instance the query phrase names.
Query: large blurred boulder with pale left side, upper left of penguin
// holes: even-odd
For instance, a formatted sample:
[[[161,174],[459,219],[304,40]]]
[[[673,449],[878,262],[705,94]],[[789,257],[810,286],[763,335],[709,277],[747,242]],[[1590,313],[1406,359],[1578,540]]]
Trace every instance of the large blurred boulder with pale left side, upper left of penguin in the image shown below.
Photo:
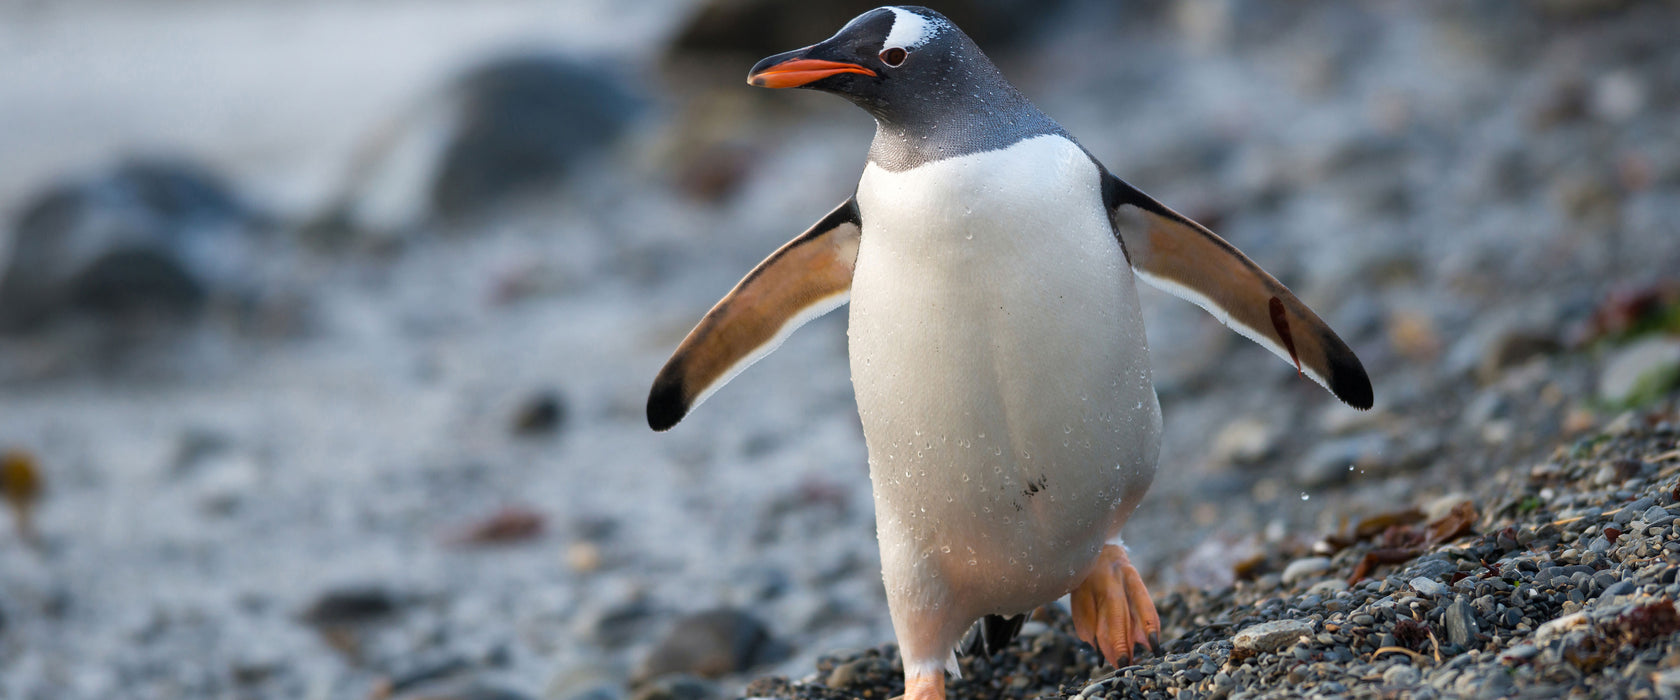
[[[554,185],[640,112],[630,82],[551,54],[472,69],[368,141],[316,233],[402,232]]]

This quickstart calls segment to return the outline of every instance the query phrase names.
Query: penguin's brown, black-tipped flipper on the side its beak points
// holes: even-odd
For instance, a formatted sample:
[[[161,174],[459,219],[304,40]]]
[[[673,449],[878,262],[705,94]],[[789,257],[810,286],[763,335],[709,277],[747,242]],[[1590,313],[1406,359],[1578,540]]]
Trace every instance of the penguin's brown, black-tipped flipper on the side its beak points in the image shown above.
[[[758,264],[677,346],[647,396],[647,425],[670,430],[793,331],[852,294],[864,228],[848,198]]]

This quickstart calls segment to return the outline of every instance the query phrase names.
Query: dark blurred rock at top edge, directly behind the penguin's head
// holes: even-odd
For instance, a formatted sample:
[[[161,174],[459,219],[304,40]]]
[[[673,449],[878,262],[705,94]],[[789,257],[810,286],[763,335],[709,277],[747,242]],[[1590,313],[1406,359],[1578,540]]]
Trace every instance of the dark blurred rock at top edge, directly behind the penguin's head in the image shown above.
[[[1067,5],[1067,0],[953,0],[936,10],[991,52],[1023,44]],[[828,39],[853,17],[877,7],[880,3],[874,0],[706,0],[682,25],[670,52],[761,59]]]

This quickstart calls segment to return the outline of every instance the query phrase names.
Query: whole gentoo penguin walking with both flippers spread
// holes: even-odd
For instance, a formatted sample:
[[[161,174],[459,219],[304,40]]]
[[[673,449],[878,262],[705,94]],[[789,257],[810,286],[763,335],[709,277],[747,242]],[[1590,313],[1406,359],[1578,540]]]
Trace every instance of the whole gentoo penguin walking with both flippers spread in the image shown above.
[[[1161,410],[1134,275],[1184,297],[1356,408],[1354,353],[1208,228],[1116,178],[937,12],[882,7],[753,67],[759,87],[875,118],[855,195],[759,264],[659,373],[648,425],[689,410],[850,300],[882,579],[906,698],[944,697],[976,619],[1072,593],[1105,660],[1159,646],[1119,542],[1154,478]]]

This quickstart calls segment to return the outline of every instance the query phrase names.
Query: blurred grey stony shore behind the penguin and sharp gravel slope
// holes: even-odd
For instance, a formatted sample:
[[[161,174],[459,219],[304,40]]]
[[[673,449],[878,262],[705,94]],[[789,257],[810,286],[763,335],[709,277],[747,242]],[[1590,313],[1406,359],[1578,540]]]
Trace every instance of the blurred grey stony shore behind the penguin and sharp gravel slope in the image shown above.
[[[748,67],[869,7],[0,0],[0,698],[706,698],[890,641],[843,314],[643,421],[872,136]],[[1680,3],[936,8],[1374,379],[1144,290],[1158,593],[1680,378]]]

